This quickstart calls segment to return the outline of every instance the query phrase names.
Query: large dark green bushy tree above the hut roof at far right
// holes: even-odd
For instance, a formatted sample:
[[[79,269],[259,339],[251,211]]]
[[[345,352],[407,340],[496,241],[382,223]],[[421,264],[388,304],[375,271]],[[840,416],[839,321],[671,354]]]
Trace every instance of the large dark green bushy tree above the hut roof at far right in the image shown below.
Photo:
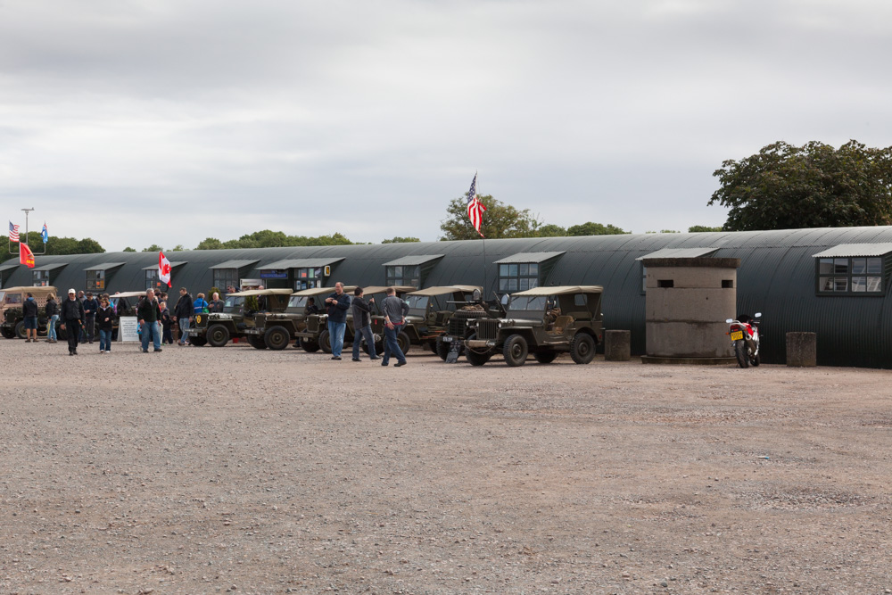
[[[892,147],[781,141],[740,161],[723,161],[713,176],[721,186],[707,204],[730,209],[725,230],[892,223]]]

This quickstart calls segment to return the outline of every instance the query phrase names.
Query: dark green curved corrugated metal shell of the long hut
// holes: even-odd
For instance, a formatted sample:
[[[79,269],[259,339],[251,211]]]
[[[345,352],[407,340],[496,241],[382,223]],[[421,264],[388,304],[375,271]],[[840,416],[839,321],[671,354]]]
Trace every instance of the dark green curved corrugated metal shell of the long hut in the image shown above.
[[[492,295],[498,265],[493,261],[518,252],[559,252],[546,283],[603,285],[605,327],[632,331],[632,351],[644,351],[646,296],[641,292],[641,265],[636,259],[663,248],[714,247],[715,257],[741,260],[738,271],[738,310],[763,312],[766,363],[785,360],[785,334],[818,334],[818,363],[822,365],[892,368],[892,292],[885,296],[817,296],[812,254],[838,244],[892,242],[892,227],[793,229],[702,234],[645,234],[524,238],[467,242],[260,248],[169,252],[172,261],[186,261],[175,269],[174,289],[186,285],[193,293],[213,285],[211,266],[225,260],[259,259],[246,277],[259,277],[265,264],[282,259],[343,257],[331,283],[383,285],[384,262],[413,254],[444,254],[428,274],[425,285],[483,285]],[[109,291],[132,291],[145,284],[144,267],[157,262],[156,252],[113,252],[77,256],[38,257],[38,266],[65,262],[53,283],[64,292],[86,284],[84,269],[100,262],[127,264],[111,277]],[[13,263],[14,260],[8,261]],[[31,271],[19,267],[5,286],[32,285]]]

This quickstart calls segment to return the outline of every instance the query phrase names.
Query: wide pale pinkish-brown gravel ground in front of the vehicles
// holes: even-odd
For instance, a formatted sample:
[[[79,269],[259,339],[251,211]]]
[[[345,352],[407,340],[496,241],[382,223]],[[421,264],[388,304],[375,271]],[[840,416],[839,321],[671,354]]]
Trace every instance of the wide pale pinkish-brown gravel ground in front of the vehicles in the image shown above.
[[[0,340],[2,593],[892,592],[889,371],[113,349]]]

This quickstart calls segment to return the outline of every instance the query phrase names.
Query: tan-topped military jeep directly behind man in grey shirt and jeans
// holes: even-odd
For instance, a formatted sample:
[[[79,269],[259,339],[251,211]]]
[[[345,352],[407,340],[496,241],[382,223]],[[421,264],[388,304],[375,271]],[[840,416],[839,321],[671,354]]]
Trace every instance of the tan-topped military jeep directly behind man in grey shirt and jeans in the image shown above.
[[[411,345],[420,345],[436,353],[437,338],[446,332],[456,304],[470,301],[481,289],[478,285],[443,285],[406,293],[409,315],[396,337],[402,352],[408,352]],[[384,336],[384,316],[372,317],[372,332]]]

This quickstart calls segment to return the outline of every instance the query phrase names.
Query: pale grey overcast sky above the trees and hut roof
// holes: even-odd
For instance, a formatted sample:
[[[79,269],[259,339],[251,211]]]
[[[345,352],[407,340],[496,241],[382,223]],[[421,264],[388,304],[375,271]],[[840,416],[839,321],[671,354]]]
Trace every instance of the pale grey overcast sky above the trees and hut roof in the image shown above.
[[[892,145],[884,0],[0,0],[0,201],[193,248],[440,235],[479,191],[546,223],[722,225],[723,160]]]

